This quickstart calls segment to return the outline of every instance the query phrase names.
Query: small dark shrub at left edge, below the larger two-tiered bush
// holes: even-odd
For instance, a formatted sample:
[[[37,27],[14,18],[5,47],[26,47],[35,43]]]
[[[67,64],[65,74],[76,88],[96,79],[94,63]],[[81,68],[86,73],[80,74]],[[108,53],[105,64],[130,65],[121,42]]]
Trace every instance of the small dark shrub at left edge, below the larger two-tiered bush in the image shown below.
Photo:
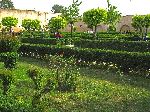
[[[7,95],[7,92],[13,82],[12,72],[9,70],[0,69],[0,80],[2,80],[3,95]]]

